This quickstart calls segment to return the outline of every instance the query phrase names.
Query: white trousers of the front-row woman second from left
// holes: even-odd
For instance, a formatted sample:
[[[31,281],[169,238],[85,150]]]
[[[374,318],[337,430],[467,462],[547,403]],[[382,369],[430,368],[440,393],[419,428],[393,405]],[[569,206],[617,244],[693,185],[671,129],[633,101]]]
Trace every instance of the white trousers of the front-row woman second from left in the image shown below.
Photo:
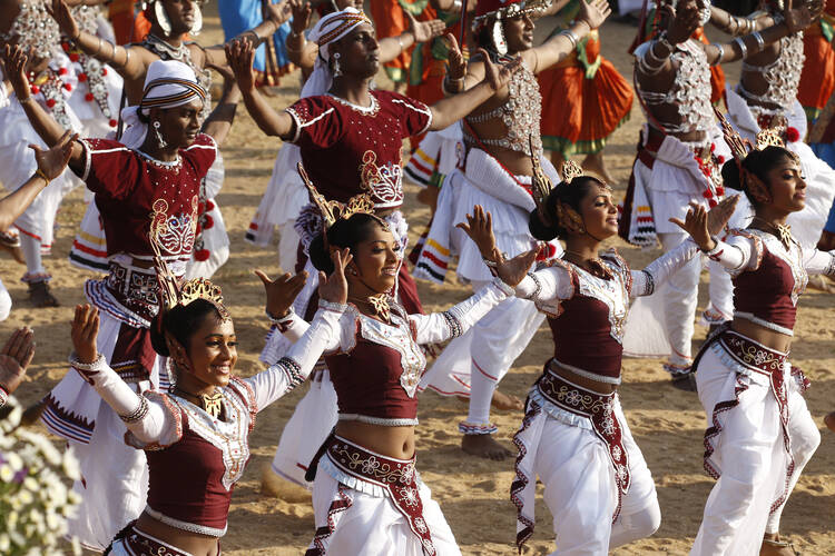
[[[327,457],[327,456],[325,456]],[[441,507],[432,499],[429,487],[419,480],[423,518],[432,535],[438,556],[461,556],[452,529]],[[332,524],[333,532],[321,539],[327,555],[333,556],[423,556],[418,536],[406,518],[384,496],[372,496],[342,486],[322,469],[313,483],[313,510],[316,528]],[[333,502],[350,500],[347,508],[328,516]],[[314,545],[311,545],[313,548]]]

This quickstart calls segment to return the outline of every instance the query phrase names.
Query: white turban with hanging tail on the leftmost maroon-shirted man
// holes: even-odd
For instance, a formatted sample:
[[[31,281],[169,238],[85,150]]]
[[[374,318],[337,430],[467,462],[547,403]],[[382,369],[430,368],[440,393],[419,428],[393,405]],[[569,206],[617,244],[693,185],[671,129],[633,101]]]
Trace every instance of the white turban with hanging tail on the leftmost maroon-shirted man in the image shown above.
[[[157,60],[148,66],[145,89],[139,106],[127,107],[121,111],[125,131],[121,142],[138,149],[148,135],[148,125],[139,119],[147,117],[151,108],[175,108],[194,99],[206,101],[206,91],[197,83],[194,70],[176,60]]]

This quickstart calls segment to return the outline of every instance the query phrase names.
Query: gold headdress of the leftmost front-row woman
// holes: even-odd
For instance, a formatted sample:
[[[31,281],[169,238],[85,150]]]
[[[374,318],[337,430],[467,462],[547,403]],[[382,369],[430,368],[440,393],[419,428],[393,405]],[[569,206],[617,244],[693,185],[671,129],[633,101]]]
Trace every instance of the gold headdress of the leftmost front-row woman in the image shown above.
[[[165,217],[164,207],[156,206],[159,202],[166,201],[159,199],[155,202],[155,211],[148,230],[148,239],[150,240],[150,247],[154,250],[154,267],[156,268],[157,282],[159,284],[160,317],[164,311],[168,311],[178,305],[185,307],[196,299],[205,299],[215,306],[223,320],[228,320],[230,318],[229,311],[224,307],[224,298],[218,286],[215,286],[205,278],[193,278],[184,281],[181,278],[177,278],[174,275],[168,267],[168,264],[165,261],[161,245],[163,236],[168,231],[168,222]],[[193,219],[193,232],[196,227],[197,222]]]

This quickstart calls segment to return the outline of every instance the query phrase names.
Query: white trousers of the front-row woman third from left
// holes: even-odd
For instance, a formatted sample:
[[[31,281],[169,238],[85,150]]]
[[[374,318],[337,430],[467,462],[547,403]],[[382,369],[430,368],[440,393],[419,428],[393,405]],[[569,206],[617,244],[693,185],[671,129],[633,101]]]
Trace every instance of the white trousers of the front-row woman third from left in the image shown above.
[[[623,447],[629,454],[631,485],[618,519],[615,469],[605,443],[593,430],[568,425],[546,411],[533,469],[544,485],[553,517],[557,549],[551,556],[600,556],[617,546],[652,535],[661,524],[652,474],[635,443],[618,403]]]

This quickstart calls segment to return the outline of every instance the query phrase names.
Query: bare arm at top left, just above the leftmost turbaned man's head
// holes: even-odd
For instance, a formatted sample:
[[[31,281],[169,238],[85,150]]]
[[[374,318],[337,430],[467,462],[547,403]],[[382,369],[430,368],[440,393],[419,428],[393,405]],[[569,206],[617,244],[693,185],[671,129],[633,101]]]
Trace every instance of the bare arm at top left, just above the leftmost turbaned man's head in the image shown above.
[[[81,31],[66,0],[52,0],[51,6],[47,4],[47,11],[58,22],[61,32],[69,37],[86,54],[107,63],[125,79],[136,80],[145,76],[147,52],[144,49],[120,47],[100,37]]]

